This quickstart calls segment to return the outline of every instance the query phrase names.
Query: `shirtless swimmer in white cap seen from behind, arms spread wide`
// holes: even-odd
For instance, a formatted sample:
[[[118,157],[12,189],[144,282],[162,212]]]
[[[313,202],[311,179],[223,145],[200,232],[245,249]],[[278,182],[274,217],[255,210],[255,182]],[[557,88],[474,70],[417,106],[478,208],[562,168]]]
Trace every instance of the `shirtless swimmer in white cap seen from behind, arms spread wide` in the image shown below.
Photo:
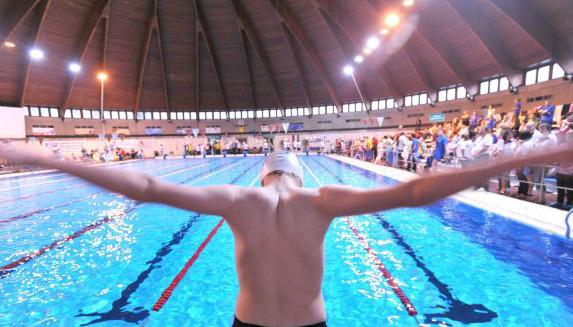
[[[335,217],[427,205],[515,167],[573,161],[573,148],[379,189],[303,188],[298,159],[282,152],[265,161],[260,188],[174,185],[139,172],[56,160],[26,146],[0,147],[0,158],[58,169],[137,201],[224,217],[235,239],[240,285],[233,326],[326,326],[324,238]]]

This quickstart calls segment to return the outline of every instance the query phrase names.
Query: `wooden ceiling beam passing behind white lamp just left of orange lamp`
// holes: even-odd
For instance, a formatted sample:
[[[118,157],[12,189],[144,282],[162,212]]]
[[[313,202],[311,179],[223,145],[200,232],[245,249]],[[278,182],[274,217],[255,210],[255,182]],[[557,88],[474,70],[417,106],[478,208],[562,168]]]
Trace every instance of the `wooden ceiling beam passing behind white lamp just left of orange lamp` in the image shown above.
[[[84,57],[87,53],[87,49],[99,23],[101,22],[102,18],[108,16],[109,13],[109,0],[100,0],[97,4],[95,9],[92,11],[92,15],[88,20],[88,24],[84,29],[81,39],[77,43],[77,46],[74,50],[72,55],[73,60],[75,60],[78,64],[82,64]],[[72,95],[72,90],[74,88],[74,84],[76,82],[77,74],[70,74],[66,79],[66,86],[64,89],[64,96],[60,105],[58,106],[58,110],[60,112],[60,118],[64,119],[64,111],[68,108],[70,97]]]

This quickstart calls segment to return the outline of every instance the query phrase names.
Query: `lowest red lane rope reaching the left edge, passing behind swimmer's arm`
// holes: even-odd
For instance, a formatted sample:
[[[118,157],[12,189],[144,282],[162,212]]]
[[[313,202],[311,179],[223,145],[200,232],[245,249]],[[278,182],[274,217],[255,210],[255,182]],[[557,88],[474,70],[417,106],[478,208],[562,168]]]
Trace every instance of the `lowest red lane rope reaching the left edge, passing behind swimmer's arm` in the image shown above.
[[[209,174],[209,175],[207,175],[207,176],[213,176],[213,175],[215,175],[215,174],[217,174],[217,173],[221,173],[221,172],[223,172],[223,171],[225,171],[225,170],[227,170],[227,169],[229,169],[229,168],[231,168],[231,167],[234,167],[234,166],[236,166],[236,165],[238,165],[238,164],[240,164],[240,163],[241,163],[241,161],[239,161],[239,162],[237,162],[236,164],[233,164],[233,165],[231,165],[231,166],[227,166],[227,167],[225,167],[225,168],[223,168],[223,169],[217,170],[216,172],[214,172],[214,173],[212,173],[212,174]],[[225,165],[222,165],[222,166],[225,166]],[[219,167],[222,167],[222,166],[219,166]],[[193,184],[195,184],[195,183],[198,183],[198,182],[204,180],[207,176],[204,176],[204,177],[201,177],[201,178],[199,178],[199,179],[197,179],[197,180],[194,180],[194,181],[193,181],[191,184],[189,184],[189,185],[193,185]],[[197,176],[195,176],[195,177],[197,177]],[[184,182],[183,182],[183,183],[184,183]],[[126,210],[126,212],[121,213],[121,214],[118,215],[118,216],[115,216],[115,217],[114,217],[114,216],[111,216],[111,217],[107,217],[107,218],[100,219],[100,220],[96,221],[95,223],[93,223],[93,224],[91,224],[91,225],[88,225],[88,226],[86,226],[86,227],[80,229],[79,231],[75,232],[74,234],[72,234],[72,235],[70,235],[70,236],[68,236],[68,237],[65,237],[65,238],[63,238],[63,239],[57,240],[57,241],[53,242],[52,244],[50,244],[50,245],[48,245],[48,246],[44,246],[44,247],[40,248],[39,250],[36,250],[36,251],[34,251],[34,252],[32,252],[32,253],[29,253],[29,254],[24,255],[23,257],[21,257],[20,259],[14,261],[14,262],[12,262],[12,263],[9,263],[9,264],[7,264],[7,265],[5,265],[5,266],[0,267],[0,278],[4,278],[4,277],[8,276],[8,275],[13,271],[14,268],[19,267],[19,266],[25,264],[26,262],[28,262],[28,261],[30,261],[30,260],[32,260],[32,259],[34,259],[34,258],[36,258],[36,257],[38,257],[38,256],[40,256],[40,255],[45,254],[45,253],[48,252],[49,250],[51,250],[51,249],[53,249],[53,248],[55,248],[55,247],[57,247],[57,246],[59,246],[59,245],[61,245],[61,244],[64,244],[64,243],[69,242],[69,241],[71,241],[71,240],[73,240],[73,239],[76,239],[76,238],[78,238],[79,236],[81,236],[81,235],[83,235],[83,234],[85,234],[85,233],[87,233],[87,232],[89,232],[89,231],[91,231],[91,230],[93,230],[93,229],[95,229],[95,228],[97,228],[97,227],[103,225],[103,224],[109,223],[109,222],[111,222],[111,221],[113,221],[113,220],[115,220],[115,219],[117,219],[117,218],[124,217],[125,215],[127,215],[127,214],[130,213],[131,211],[135,210],[138,206],[140,206],[140,205],[142,205],[142,204],[144,204],[144,203],[143,203],[143,202],[136,202],[131,208],[129,208],[128,210]]]

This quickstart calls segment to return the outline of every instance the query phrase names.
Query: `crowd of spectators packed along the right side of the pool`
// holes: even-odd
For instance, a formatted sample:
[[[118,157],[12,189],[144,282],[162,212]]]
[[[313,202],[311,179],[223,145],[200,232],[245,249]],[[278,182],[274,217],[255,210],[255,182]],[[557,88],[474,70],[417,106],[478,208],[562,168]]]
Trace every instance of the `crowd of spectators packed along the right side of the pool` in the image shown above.
[[[555,119],[556,115],[559,115]],[[542,106],[523,110],[516,99],[510,112],[496,112],[489,107],[483,113],[464,112],[451,122],[413,132],[399,132],[381,137],[354,140],[337,139],[334,151],[378,164],[411,170],[420,174],[438,166],[468,167],[488,160],[504,159],[514,154],[527,155],[559,144],[573,145],[573,110],[555,111],[546,101]],[[439,163],[439,165],[438,165]],[[512,192],[510,174],[519,185]],[[555,177],[557,198],[552,206],[571,209],[573,205],[573,166],[529,166],[498,176],[497,191],[520,199],[529,199],[533,189],[545,191],[545,178]],[[489,181],[476,188],[489,190]]]

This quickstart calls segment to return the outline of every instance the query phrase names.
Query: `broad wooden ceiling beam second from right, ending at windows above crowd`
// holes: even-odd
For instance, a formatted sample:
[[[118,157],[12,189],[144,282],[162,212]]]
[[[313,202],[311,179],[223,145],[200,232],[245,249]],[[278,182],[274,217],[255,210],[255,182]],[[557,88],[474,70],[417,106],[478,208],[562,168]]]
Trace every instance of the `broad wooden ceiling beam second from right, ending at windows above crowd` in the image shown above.
[[[511,85],[519,86],[523,83],[523,72],[515,67],[509,53],[504,48],[503,40],[498,37],[497,31],[493,30],[490,24],[484,24],[481,15],[476,12],[482,6],[481,2],[443,0],[477,37],[479,43],[493,59],[499,68],[499,72],[504,74]]]

